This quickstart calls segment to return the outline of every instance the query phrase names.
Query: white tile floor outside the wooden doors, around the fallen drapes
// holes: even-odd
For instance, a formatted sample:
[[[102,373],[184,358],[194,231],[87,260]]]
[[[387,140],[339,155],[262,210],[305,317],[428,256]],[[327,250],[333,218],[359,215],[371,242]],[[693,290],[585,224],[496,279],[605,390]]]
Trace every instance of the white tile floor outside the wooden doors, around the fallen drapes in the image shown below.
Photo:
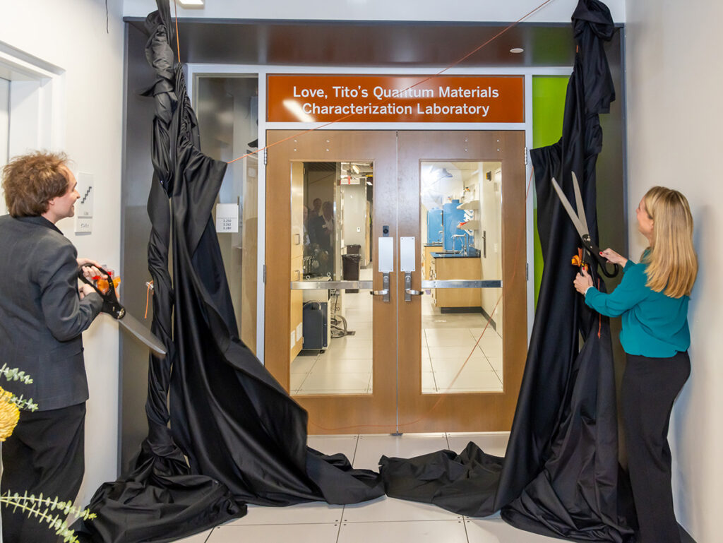
[[[460,451],[474,441],[502,455],[507,433],[309,436],[325,453],[344,453],[356,468],[377,469],[380,456],[416,456],[442,448]],[[249,505],[243,518],[176,543],[545,543],[500,518],[467,518],[423,503],[381,497],[356,505],[306,503],[287,508]]]

